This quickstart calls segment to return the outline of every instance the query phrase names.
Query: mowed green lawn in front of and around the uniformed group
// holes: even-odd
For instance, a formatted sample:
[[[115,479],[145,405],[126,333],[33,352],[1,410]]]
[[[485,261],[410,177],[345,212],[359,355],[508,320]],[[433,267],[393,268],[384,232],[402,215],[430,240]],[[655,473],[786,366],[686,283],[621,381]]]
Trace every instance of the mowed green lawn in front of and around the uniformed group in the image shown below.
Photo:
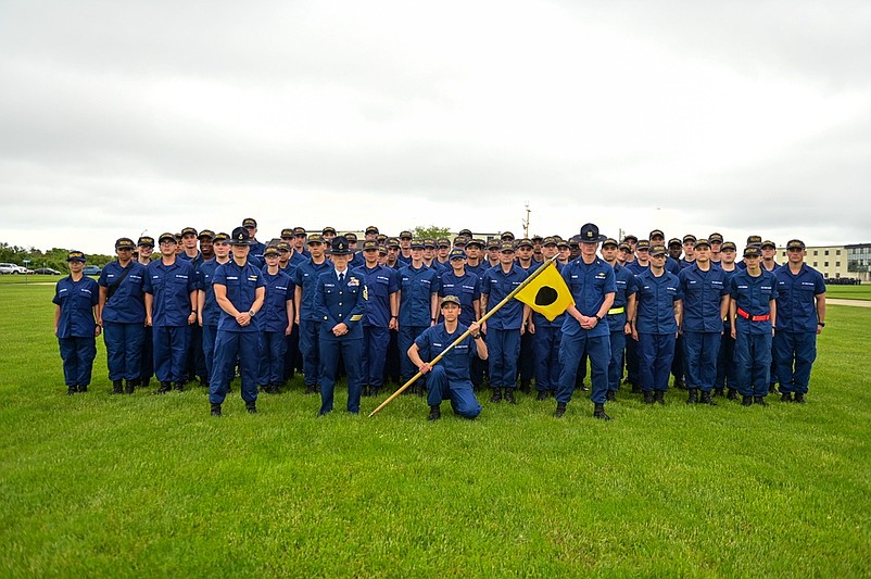
[[[238,387],[66,397],[51,286],[0,284],[0,576],[871,575],[871,311],[831,306],[806,405],[591,417],[417,397],[317,418]],[[383,398],[383,397],[382,397]],[[344,393],[338,395],[339,408]]]

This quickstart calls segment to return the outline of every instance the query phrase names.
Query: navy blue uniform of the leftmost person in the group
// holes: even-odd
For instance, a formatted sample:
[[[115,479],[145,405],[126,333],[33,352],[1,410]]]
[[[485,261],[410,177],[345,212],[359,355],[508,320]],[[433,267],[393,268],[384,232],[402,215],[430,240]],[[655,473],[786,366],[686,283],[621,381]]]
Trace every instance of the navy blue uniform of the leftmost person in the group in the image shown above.
[[[73,281],[66,276],[54,287],[52,303],[60,307],[58,345],[63,361],[63,377],[70,391],[87,390],[97,357],[94,306],[100,300],[97,281],[81,276]]]

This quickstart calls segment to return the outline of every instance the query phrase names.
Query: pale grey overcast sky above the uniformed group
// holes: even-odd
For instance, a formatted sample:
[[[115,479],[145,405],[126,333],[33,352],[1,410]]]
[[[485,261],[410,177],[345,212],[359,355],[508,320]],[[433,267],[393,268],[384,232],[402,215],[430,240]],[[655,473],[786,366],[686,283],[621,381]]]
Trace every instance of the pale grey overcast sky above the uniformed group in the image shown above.
[[[871,242],[871,2],[0,0],[0,241]]]

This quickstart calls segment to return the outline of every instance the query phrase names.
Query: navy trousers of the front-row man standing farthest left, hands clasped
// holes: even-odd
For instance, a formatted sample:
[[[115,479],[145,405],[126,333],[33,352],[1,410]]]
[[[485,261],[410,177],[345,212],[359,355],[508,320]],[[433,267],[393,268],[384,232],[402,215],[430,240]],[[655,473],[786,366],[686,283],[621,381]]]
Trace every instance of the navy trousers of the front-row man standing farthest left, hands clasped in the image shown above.
[[[242,400],[257,400],[257,370],[260,369],[260,335],[256,331],[220,331],[215,338],[215,375],[209,379],[209,402],[223,404],[227,388],[232,381],[236,362],[242,378]]]

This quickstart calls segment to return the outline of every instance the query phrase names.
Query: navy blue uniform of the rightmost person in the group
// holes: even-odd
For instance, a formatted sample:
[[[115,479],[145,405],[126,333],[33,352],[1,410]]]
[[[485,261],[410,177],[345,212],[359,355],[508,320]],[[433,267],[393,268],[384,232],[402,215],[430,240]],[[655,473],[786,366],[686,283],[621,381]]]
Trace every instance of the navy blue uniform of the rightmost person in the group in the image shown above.
[[[817,299],[825,294],[822,275],[801,264],[798,274],[788,265],[774,273],[778,287],[778,328],[774,358],[781,393],[806,394],[810,368],[817,358]]]

